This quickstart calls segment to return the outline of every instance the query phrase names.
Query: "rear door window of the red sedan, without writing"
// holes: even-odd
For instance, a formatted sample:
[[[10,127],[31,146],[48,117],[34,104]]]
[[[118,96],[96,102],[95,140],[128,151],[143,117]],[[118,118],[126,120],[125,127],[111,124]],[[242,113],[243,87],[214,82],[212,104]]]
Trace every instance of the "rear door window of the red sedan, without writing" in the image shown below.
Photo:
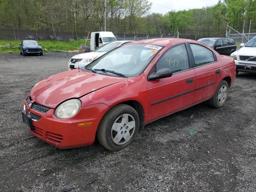
[[[198,44],[190,44],[193,52],[195,67],[212,63],[215,61],[214,55],[211,50]]]

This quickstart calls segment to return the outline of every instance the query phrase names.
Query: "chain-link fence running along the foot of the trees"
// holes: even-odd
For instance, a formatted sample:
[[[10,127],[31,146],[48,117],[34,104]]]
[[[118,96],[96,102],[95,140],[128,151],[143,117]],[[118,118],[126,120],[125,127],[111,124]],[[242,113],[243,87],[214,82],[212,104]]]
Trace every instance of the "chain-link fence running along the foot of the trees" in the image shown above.
[[[208,35],[207,32],[194,31],[189,29],[178,30],[174,33],[167,33],[165,30],[156,31],[154,34],[148,34],[148,31],[139,32],[113,32],[117,40],[144,40],[153,38],[186,38],[198,40],[205,37],[214,37]],[[63,31],[40,31],[40,30],[16,30],[16,29],[0,29],[0,40],[76,40],[76,38],[85,39],[88,32],[63,32]],[[89,36],[90,38],[90,36]]]

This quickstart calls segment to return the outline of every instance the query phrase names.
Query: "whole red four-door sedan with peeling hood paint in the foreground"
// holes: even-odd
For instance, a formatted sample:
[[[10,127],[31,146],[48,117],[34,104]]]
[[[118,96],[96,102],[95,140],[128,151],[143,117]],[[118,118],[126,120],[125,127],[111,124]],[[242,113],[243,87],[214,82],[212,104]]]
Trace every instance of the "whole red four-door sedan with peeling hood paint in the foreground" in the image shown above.
[[[97,136],[120,150],[154,120],[206,100],[222,107],[235,76],[234,59],[200,42],[141,40],[38,82],[22,117],[32,134],[58,148],[90,145]]]

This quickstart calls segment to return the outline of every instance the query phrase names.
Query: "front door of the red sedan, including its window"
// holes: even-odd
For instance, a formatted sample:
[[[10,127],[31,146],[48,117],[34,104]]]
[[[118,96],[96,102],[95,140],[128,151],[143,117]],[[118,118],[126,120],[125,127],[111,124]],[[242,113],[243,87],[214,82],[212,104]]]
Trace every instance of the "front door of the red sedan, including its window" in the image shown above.
[[[173,75],[169,78],[146,81],[150,121],[193,104],[195,72],[190,65],[185,44],[170,48],[158,60],[152,71],[161,68],[170,68]]]

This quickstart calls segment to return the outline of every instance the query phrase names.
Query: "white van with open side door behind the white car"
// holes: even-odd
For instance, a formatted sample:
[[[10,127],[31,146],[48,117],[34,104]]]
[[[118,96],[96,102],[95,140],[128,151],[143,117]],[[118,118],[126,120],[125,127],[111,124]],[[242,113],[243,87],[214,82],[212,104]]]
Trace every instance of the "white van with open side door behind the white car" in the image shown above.
[[[112,32],[100,31],[91,33],[91,43],[90,48],[93,51],[94,49],[102,46],[103,44],[116,41],[116,37]]]

